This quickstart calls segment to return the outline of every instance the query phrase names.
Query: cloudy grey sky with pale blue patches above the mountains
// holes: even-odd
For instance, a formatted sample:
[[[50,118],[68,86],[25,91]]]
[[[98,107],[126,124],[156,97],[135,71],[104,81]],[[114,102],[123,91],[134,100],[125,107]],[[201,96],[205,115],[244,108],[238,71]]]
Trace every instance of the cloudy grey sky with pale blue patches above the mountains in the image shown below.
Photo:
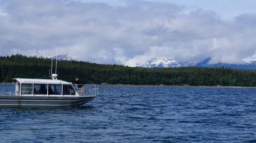
[[[99,64],[256,56],[256,0],[0,0],[0,56]]]

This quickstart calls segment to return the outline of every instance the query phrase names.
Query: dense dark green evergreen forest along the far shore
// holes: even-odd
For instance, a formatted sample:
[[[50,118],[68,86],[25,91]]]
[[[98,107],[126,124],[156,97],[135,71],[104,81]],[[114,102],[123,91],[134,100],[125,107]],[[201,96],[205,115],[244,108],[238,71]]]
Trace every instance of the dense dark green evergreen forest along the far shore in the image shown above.
[[[0,83],[11,83],[13,78],[49,79],[51,66],[52,60],[42,56],[0,56]],[[55,60],[52,70],[55,73]],[[84,84],[256,87],[256,70],[224,67],[145,68],[58,61],[57,74],[58,79],[79,78]]]

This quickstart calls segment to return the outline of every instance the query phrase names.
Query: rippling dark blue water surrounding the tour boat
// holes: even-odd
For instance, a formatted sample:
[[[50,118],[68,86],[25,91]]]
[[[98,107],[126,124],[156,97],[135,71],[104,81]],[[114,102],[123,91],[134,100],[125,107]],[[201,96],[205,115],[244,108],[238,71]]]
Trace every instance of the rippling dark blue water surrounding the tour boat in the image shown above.
[[[256,143],[256,89],[105,86],[99,93],[78,109],[0,108],[0,143]]]

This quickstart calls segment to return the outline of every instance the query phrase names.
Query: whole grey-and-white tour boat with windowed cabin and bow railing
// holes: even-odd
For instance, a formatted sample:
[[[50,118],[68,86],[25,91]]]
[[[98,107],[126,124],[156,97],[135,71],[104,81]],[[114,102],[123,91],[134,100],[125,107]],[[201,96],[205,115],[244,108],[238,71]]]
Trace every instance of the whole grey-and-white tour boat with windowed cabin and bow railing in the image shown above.
[[[58,80],[57,76],[52,74],[52,79],[12,79],[15,92],[0,92],[0,107],[81,107],[99,94],[98,86],[85,84],[81,95],[78,85]]]

